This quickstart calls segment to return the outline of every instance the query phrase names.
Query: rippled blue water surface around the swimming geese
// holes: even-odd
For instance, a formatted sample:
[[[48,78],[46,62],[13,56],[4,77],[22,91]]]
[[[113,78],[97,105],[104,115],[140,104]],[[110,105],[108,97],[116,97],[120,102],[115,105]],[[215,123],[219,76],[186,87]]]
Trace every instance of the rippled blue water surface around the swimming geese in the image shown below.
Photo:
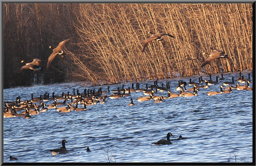
[[[242,72],[248,78],[252,72]],[[215,80],[217,75],[212,75]],[[220,75],[219,75],[220,76]],[[235,80],[238,73],[226,73],[225,80]],[[208,75],[203,79],[209,80]],[[170,81],[171,91],[176,91],[178,80],[198,82],[198,76],[158,80],[166,85]],[[221,81],[221,82],[224,82]],[[220,82],[220,83],[221,83]],[[236,82],[236,81],[235,81]],[[154,81],[141,82],[154,84]],[[82,83],[60,83],[35,85],[4,89],[4,101],[30,99],[31,93],[39,97],[45,92],[70,91],[73,88],[83,93]],[[203,84],[202,84],[203,85]],[[110,90],[122,88],[122,84],[110,85]],[[125,83],[125,88],[131,83]],[[104,150],[112,152],[116,162],[252,162],[252,91],[233,90],[233,93],[208,96],[208,91],[220,91],[220,84],[208,89],[199,89],[198,96],[165,99],[162,103],[154,101],[138,102],[142,92],[131,96],[110,99],[107,103],[88,105],[87,111],[60,113],[48,109],[34,118],[4,118],[4,162],[10,161],[9,155],[18,162],[107,162]],[[101,86],[107,90],[107,85]],[[136,87],[136,86],[135,86]],[[187,85],[187,89],[192,86]],[[108,93],[108,94],[112,94]],[[167,92],[155,95],[167,96]],[[134,106],[128,106],[130,98]],[[53,101],[45,102],[47,105]],[[79,107],[83,107],[79,104]],[[168,132],[190,139],[172,141],[172,145],[152,146],[152,142],[166,139]],[[171,137],[173,139],[173,137]],[[67,141],[68,154],[52,156],[50,149],[61,147],[61,140]],[[86,152],[90,147],[92,152]],[[103,150],[104,148],[104,150]],[[110,149],[111,148],[111,149]],[[239,151],[238,151],[239,150]],[[237,161],[234,154],[237,153]],[[115,161],[112,158],[112,161]]]

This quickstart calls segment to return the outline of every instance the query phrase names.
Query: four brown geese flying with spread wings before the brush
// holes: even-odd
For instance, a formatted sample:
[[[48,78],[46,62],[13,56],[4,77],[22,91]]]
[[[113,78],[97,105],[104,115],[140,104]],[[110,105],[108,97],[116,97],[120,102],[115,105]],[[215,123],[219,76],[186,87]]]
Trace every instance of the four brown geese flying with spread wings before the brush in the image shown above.
[[[151,34],[151,32],[148,32],[148,34]],[[145,48],[147,47],[147,45],[152,42],[153,40],[155,41],[162,41],[163,38],[162,36],[169,36],[171,38],[174,38],[174,36],[172,35],[169,35],[169,34],[166,34],[166,33],[160,33],[160,34],[152,34],[150,38],[147,38],[144,43],[143,43],[143,48],[142,48],[142,52],[145,52]],[[73,37],[71,37],[73,38]],[[61,57],[63,58],[64,56],[62,55],[63,54],[63,50],[62,48],[64,47],[64,45],[71,39],[67,39],[67,40],[64,40],[62,42],[59,43],[59,45],[53,49],[52,51],[52,54],[49,56],[48,58],[48,62],[47,62],[47,67],[46,69],[48,70],[50,68],[50,65],[51,65],[51,62],[53,61],[53,59],[56,57],[56,55],[61,55]],[[51,46],[49,48],[52,48]],[[228,58],[227,55],[225,55],[225,53],[223,51],[220,51],[218,49],[213,49],[211,48],[211,50],[213,51],[213,53],[211,54],[207,54],[207,53],[203,53],[203,55],[208,55],[209,58],[207,58],[205,60],[205,62],[200,66],[200,68],[204,67],[205,65],[207,64],[211,64],[212,61],[216,60],[216,59],[220,59],[220,58]],[[23,63],[24,61],[22,61]],[[19,70],[19,74],[22,73],[22,71],[24,69],[31,69],[33,71],[36,71],[36,70],[41,70],[41,67],[39,67],[41,63],[41,60],[40,59],[33,59],[33,61],[31,63],[26,63],[26,65],[22,66]]]

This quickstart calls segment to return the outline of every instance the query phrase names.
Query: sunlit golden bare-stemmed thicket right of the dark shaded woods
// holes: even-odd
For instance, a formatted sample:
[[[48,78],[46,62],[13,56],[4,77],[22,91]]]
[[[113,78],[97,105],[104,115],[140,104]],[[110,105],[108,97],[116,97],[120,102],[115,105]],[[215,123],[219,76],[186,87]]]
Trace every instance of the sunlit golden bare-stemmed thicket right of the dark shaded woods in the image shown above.
[[[95,84],[193,76],[202,72],[207,58],[202,53],[211,47],[229,59],[205,66],[206,73],[252,70],[252,4],[80,4],[79,9],[79,49],[69,53],[78,67],[70,72]],[[149,31],[175,39],[165,36],[142,53]]]

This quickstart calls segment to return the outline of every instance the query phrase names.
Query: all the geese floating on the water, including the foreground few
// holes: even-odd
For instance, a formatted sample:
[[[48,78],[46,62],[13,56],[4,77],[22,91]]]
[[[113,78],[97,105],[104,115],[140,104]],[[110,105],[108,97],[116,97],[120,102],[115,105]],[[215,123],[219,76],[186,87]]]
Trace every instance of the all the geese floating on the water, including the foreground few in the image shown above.
[[[223,78],[223,74],[221,74],[221,78],[216,76],[216,80],[213,81],[211,75],[209,75],[209,80],[203,80],[202,76],[198,78],[198,82],[193,82],[192,79],[189,82],[178,81],[178,85],[176,89],[179,93],[171,92],[170,82],[166,83],[164,87],[164,83],[161,86],[158,86],[158,80],[154,81],[154,84],[149,85],[146,83],[146,88],[140,88],[140,83],[136,83],[136,88],[134,88],[134,83],[132,83],[131,87],[124,88],[124,84],[122,88],[117,87],[117,89],[113,89],[110,91],[110,86],[107,87],[107,90],[102,90],[100,87],[98,90],[95,89],[84,89],[83,93],[79,92],[79,89],[73,88],[73,94],[68,91],[67,93],[62,92],[60,96],[55,95],[55,92],[52,92],[52,96],[49,96],[49,93],[45,93],[40,95],[39,97],[34,97],[34,94],[31,94],[30,99],[21,100],[20,96],[16,97],[15,101],[5,101],[4,102],[4,109],[3,109],[3,116],[4,118],[7,117],[21,117],[23,119],[33,118],[32,115],[41,114],[42,112],[47,112],[48,109],[57,110],[60,113],[71,112],[71,111],[86,111],[87,105],[96,105],[96,104],[104,104],[107,102],[107,98],[110,99],[117,99],[123,97],[131,97],[132,93],[142,92],[144,96],[137,97],[136,101],[144,102],[153,100],[155,103],[163,102],[166,99],[175,98],[175,97],[190,97],[190,96],[197,96],[198,91],[200,88],[207,89],[211,85],[220,84],[220,91],[209,91],[206,92],[207,95],[217,95],[217,94],[224,94],[224,93],[232,93],[234,89],[236,90],[252,90],[249,83],[250,81],[250,73],[248,74],[248,78],[246,79],[244,76],[241,75],[239,71],[239,77],[236,79],[232,77],[230,82],[224,82],[225,78]],[[240,84],[244,83],[244,85]],[[187,88],[188,86],[192,86],[191,88]],[[224,89],[224,86],[225,87]],[[76,92],[75,92],[76,90]],[[157,95],[158,92],[167,92],[167,96]],[[189,92],[191,91],[191,92]],[[48,102],[49,104],[46,105],[44,102]],[[50,103],[52,102],[52,103]],[[79,105],[82,105],[79,106]],[[135,103],[133,102],[133,98],[130,98],[129,106],[134,106]],[[20,113],[17,113],[20,111]],[[172,144],[172,140],[182,140],[186,139],[181,135],[177,139],[170,139],[170,136],[173,136],[171,133],[167,134],[167,139],[161,139],[157,142],[153,142],[154,145],[168,145]],[[52,155],[68,153],[65,143],[67,141],[62,141],[62,147],[59,149],[50,150]],[[87,148],[89,150],[89,147]],[[12,156],[10,156],[10,160],[14,160]]]

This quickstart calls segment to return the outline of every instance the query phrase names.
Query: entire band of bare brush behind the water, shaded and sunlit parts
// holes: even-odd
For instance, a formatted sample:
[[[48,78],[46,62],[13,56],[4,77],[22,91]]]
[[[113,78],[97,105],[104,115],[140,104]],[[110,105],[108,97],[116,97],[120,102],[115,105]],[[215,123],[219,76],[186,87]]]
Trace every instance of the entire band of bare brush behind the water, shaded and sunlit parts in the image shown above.
[[[252,70],[252,4],[4,4],[4,87],[85,80],[93,84],[138,82],[220,71]],[[142,44],[165,32],[175,39]],[[65,58],[57,56],[62,40]],[[229,59],[199,66],[210,48]],[[42,60],[40,72],[18,71]]]

